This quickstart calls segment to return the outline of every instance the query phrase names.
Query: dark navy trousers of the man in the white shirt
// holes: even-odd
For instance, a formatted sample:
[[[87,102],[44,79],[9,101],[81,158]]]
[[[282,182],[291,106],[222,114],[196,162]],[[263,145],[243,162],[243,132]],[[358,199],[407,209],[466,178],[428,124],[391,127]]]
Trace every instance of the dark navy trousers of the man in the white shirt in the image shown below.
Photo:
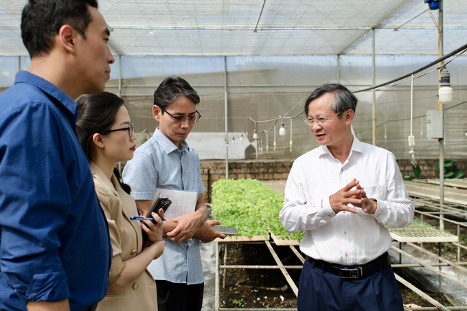
[[[359,279],[341,279],[305,262],[300,275],[298,311],[315,310],[403,311],[404,307],[391,266]]]

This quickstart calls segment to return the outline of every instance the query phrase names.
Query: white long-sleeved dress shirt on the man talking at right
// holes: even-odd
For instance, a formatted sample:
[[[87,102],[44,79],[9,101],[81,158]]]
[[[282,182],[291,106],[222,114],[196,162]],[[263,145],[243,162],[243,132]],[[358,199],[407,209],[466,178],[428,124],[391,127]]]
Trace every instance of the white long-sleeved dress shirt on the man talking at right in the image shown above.
[[[335,214],[329,197],[350,183],[360,181],[368,198],[378,202],[374,214]],[[354,188],[355,189],[355,188]],[[415,206],[394,154],[362,143],[354,137],[342,164],[328,147],[320,146],[299,157],[288,175],[280,220],[289,232],[306,231],[300,250],[316,260],[334,264],[365,264],[391,246],[387,228],[407,227]]]

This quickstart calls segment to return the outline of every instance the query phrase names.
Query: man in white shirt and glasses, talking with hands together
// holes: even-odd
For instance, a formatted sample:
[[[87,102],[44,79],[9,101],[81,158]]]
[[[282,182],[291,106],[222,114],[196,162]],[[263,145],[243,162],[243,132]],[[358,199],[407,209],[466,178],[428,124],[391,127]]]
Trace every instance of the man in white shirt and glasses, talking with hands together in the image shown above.
[[[305,231],[298,310],[403,310],[388,228],[411,224],[415,207],[394,154],[352,135],[356,104],[341,84],[306,100],[321,146],[293,163],[280,212],[287,231]]]

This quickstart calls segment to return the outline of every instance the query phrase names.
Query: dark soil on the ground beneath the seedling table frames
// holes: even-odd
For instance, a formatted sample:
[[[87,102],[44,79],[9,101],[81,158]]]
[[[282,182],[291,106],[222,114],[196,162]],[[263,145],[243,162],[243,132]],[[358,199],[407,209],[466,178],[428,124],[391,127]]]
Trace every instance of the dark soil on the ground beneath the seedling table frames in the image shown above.
[[[447,224],[448,228],[450,226]],[[301,265],[301,262],[289,246],[276,246],[273,249],[286,266]],[[424,244],[426,249],[437,253],[437,246]],[[435,249],[436,247],[436,249]],[[220,264],[223,264],[225,244],[220,248]],[[299,248],[297,247],[297,250]],[[462,251],[461,261],[465,261],[466,252]],[[457,248],[444,245],[442,255],[454,260]],[[304,254],[302,253],[304,256]],[[305,257],[305,256],[304,256]],[[227,264],[238,265],[276,265],[271,252],[263,242],[258,244],[228,244]],[[295,284],[299,284],[301,269],[288,269]],[[400,273],[397,269],[396,273]],[[297,308],[297,297],[288,285],[280,269],[227,269],[225,277],[225,288],[223,288],[223,270],[220,271],[220,307],[221,308]],[[404,276],[405,277],[405,276]],[[407,277],[405,277],[407,279]],[[407,281],[411,281],[407,279]],[[422,307],[431,307],[431,303],[415,294],[409,288],[399,284],[404,303]],[[441,293],[426,292],[444,306],[452,306]]]

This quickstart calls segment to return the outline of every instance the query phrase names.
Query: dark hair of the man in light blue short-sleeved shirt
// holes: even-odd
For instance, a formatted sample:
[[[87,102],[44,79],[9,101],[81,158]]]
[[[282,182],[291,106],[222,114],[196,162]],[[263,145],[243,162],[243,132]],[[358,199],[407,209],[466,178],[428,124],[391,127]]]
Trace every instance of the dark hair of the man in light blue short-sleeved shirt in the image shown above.
[[[162,113],[166,109],[185,96],[190,98],[194,104],[199,104],[200,99],[198,93],[194,91],[190,83],[180,77],[168,77],[159,84],[159,87],[154,92],[154,104],[161,108]]]

